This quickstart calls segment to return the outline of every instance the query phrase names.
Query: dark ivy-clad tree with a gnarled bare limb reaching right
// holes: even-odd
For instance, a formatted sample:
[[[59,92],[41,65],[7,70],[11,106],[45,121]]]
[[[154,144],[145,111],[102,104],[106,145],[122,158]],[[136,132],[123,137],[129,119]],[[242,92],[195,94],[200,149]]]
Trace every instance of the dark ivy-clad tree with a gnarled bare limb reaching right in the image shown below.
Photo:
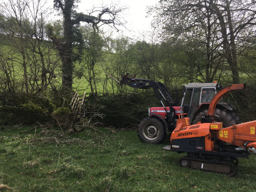
[[[94,31],[98,31],[101,25],[107,24],[117,29],[121,25],[120,13],[124,8],[117,8],[116,6],[110,7],[97,7],[93,8],[87,14],[77,13],[75,11],[76,0],[54,0],[54,7],[60,10],[64,23],[64,39],[60,40],[54,36],[49,36],[55,43],[55,48],[58,49],[62,60],[62,85],[70,89],[72,87],[72,59],[73,58],[73,43],[81,43],[79,37],[80,22],[89,24]],[[97,14],[94,16],[95,14]],[[117,29],[118,30],[118,29]]]

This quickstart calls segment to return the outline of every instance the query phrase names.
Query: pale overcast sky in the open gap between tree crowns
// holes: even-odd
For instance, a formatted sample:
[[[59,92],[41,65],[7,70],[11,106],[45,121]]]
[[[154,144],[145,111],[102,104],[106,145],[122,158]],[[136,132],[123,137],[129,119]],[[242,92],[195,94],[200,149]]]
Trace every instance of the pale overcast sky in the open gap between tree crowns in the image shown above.
[[[53,1],[48,0],[48,3]],[[86,13],[86,10],[91,10],[92,7],[97,7],[100,5],[111,5],[118,4],[120,7],[127,7],[128,9],[124,11],[123,17],[127,21],[126,29],[122,28],[123,35],[129,36],[131,38],[139,37],[142,32],[150,31],[150,22],[152,17],[147,16],[147,6],[155,5],[158,0],[81,0],[78,4],[78,12]],[[53,6],[53,5],[52,5]],[[114,34],[114,36],[122,35],[122,32]]]

